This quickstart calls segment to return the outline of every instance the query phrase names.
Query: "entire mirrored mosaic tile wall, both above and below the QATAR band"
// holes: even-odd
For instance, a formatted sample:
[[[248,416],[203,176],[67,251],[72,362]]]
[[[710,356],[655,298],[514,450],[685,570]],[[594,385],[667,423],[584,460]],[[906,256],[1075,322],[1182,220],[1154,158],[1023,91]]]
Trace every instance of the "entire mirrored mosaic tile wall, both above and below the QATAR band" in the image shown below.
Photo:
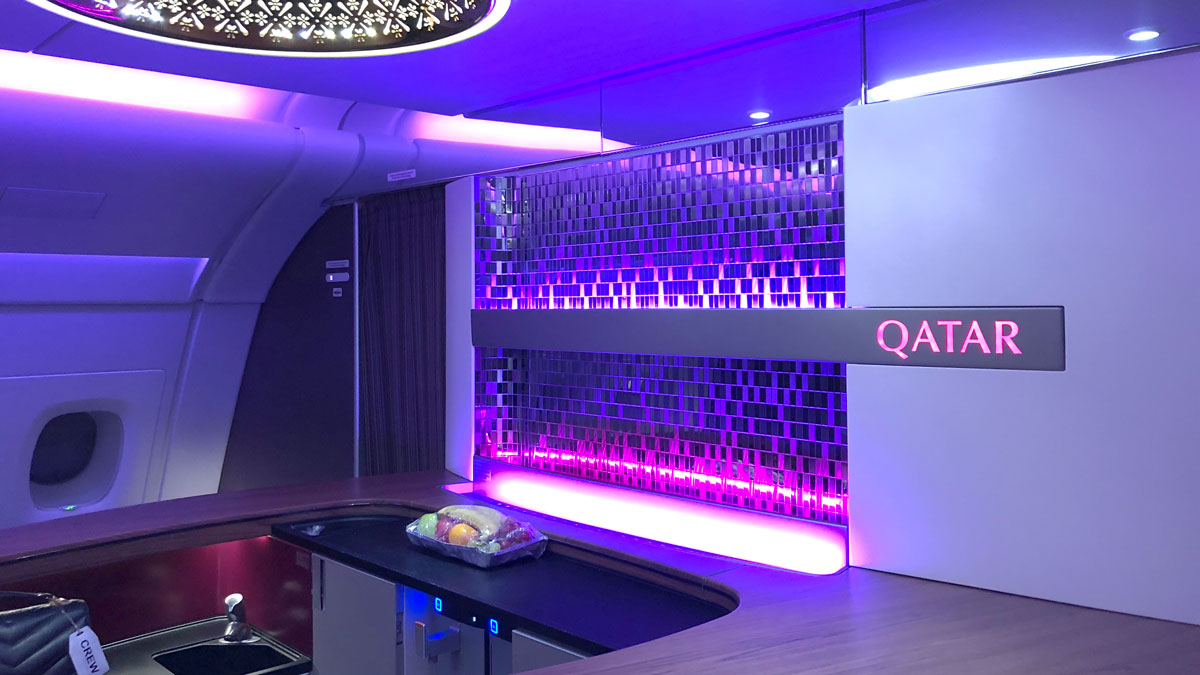
[[[841,123],[826,121],[480,177],[475,306],[841,307]],[[846,524],[845,364],[475,359],[480,456]]]

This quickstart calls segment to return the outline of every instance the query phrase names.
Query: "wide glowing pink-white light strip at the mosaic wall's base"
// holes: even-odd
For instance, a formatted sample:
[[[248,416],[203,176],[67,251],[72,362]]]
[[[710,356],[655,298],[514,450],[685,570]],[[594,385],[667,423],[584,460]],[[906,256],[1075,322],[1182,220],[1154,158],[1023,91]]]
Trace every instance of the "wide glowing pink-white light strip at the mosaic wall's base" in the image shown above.
[[[583,525],[808,574],[846,567],[841,527],[608,488],[540,473],[496,473],[475,492]]]

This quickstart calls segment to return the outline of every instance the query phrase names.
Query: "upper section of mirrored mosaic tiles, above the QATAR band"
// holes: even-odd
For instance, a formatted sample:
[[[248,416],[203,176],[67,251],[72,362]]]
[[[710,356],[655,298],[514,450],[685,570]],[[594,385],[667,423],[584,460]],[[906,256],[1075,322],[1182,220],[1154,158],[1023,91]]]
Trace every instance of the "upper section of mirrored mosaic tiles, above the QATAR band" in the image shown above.
[[[476,309],[841,307],[841,121],[480,177]]]

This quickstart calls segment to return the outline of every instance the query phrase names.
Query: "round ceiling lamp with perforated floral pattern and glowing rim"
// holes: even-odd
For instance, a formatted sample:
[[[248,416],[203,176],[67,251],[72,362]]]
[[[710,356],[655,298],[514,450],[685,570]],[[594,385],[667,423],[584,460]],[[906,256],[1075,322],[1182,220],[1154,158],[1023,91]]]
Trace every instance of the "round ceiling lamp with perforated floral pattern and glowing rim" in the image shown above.
[[[496,25],[511,0],[29,0],[67,18],[204,49],[374,56],[433,49]]]

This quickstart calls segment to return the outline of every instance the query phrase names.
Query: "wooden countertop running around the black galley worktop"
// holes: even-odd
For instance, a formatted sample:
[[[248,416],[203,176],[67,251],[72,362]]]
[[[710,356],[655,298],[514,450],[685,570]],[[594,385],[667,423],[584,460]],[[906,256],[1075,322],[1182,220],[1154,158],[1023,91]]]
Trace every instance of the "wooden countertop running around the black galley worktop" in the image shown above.
[[[0,531],[0,586],[148,552],[258,537],[280,522],[431,510],[444,473],[206,495]],[[1200,673],[1200,627],[851,568],[808,577],[552,519],[574,555],[738,607],[546,675],[744,673]]]

